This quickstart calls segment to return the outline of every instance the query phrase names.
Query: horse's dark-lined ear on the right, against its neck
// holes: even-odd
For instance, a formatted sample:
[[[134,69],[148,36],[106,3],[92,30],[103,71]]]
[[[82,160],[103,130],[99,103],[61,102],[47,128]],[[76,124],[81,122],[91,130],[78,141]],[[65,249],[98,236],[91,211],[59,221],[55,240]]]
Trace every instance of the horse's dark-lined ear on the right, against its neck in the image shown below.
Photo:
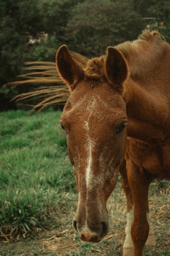
[[[128,65],[123,54],[117,49],[108,47],[107,52],[106,76],[108,82],[122,92],[122,84],[128,78]]]

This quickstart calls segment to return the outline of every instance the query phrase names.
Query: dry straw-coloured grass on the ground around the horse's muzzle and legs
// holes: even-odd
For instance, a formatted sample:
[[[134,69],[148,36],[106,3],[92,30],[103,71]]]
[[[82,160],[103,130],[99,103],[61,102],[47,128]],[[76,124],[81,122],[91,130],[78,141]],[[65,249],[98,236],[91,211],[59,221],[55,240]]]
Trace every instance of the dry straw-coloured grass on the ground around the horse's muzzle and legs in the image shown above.
[[[157,188],[156,192],[155,187]],[[170,256],[170,182],[166,182],[164,188],[158,187],[158,181],[150,185],[149,197],[150,214],[157,245],[146,246],[144,249],[146,256]],[[79,240],[71,226],[74,211],[75,205],[72,205],[69,211],[62,216],[60,229],[54,229],[48,234],[48,238],[41,240],[41,244],[47,250],[55,252],[57,256],[122,255],[126,225],[126,198],[120,183],[117,184],[108,200],[110,232],[99,244]]]

